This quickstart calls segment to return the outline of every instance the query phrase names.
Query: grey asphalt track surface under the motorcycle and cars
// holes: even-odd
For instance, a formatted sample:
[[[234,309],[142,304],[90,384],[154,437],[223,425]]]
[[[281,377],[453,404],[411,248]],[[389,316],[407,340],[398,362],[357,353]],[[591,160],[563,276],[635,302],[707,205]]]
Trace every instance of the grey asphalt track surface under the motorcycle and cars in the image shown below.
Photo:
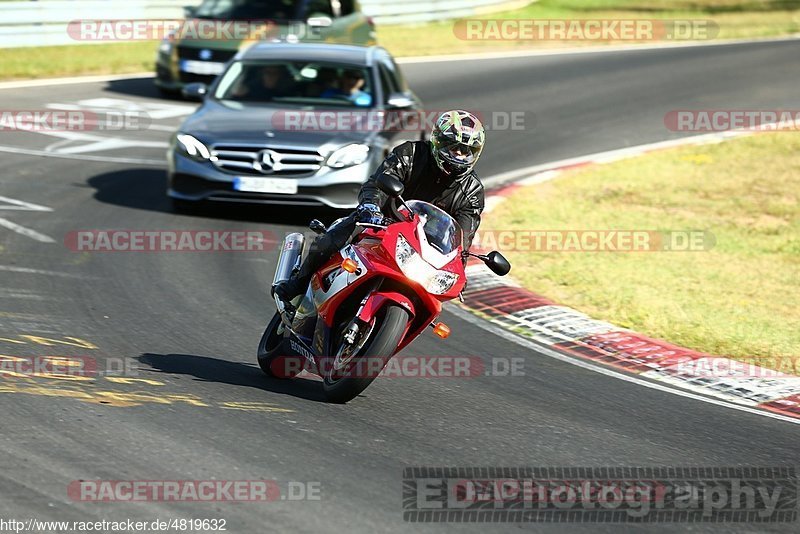
[[[431,109],[521,110],[535,117],[525,131],[490,133],[479,167],[489,176],[675,137],[663,124],[664,114],[673,109],[796,109],[798,67],[800,42],[774,42],[412,64],[404,71]],[[185,105],[157,98],[149,80],[2,91],[6,109],[87,99],[94,104],[83,105],[98,105],[93,100],[98,98],[151,107]],[[556,361],[451,313],[443,316],[453,330],[448,340],[424,335],[405,354],[475,356],[486,362],[523,358],[524,376],[384,379],[344,406],[322,402],[319,382],[267,380],[254,355],[274,310],[266,288],[276,252],[76,253],[64,246],[65,234],[79,229],[262,229],[282,236],[320,215],[274,208],[176,215],[164,196],[163,166],[102,161],[163,159],[168,130],[181,120],[171,114],[162,113],[166,116],[155,121],[155,130],[114,134],[139,145],[116,149],[108,143],[108,149],[85,148],[96,139],[0,134],[2,195],[52,210],[8,210],[0,203],[0,217],[55,241],[0,229],[0,353],[85,355],[96,358],[101,369],[112,359],[128,358],[136,376],[150,381],[2,380],[0,517],[225,518],[230,532],[441,532],[456,525],[403,521],[404,467],[796,463],[797,425]],[[155,144],[141,146],[142,141]],[[70,147],[88,151],[70,157]],[[36,152],[44,150],[66,157]],[[71,336],[98,348],[48,347],[23,335]],[[126,403],[138,405],[120,406]],[[67,496],[68,484],[83,479],[271,479],[284,489],[289,481],[316,482],[321,498],[244,504],[74,502]],[[678,532],[687,526],[648,528]],[[458,528],[596,532],[628,527]],[[794,526],[690,528],[777,532]]]

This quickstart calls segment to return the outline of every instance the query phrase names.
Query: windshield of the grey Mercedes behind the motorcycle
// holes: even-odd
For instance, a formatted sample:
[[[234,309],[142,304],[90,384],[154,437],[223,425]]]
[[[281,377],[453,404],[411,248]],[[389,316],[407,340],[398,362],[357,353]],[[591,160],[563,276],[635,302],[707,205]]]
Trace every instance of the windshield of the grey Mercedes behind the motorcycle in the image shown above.
[[[364,67],[307,61],[237,61],[220,78],[214,98],[310,107],[373,107]]]

